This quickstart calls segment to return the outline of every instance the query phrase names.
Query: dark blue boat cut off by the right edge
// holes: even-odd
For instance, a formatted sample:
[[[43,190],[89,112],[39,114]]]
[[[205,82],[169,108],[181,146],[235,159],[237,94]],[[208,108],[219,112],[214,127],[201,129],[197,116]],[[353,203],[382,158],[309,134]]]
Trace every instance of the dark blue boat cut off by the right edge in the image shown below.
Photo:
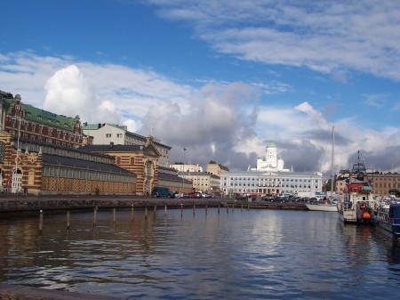
[[[377,232],[398,244],[400,239],[400,204],[391,199],[381,199],[375,206],[373,223]]]

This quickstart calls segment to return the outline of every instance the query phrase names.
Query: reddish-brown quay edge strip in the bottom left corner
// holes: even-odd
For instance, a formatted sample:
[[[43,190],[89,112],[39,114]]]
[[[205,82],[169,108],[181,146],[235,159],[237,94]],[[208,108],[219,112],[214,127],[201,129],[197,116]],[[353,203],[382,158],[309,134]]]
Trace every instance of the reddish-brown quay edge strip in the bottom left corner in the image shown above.
[[[30,288],[0,283],[1,300],[118,300],[112,296],[71,293],[54,289]]]

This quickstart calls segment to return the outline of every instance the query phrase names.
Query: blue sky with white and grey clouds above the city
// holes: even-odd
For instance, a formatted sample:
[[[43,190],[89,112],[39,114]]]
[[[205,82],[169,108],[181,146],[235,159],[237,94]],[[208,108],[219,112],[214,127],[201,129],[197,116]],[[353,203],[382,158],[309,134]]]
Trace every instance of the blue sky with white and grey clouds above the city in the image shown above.
[[[0,7],[0,90],[24,103],[151,134],[172,164],[247,170],[275,142],[299,172],[330,178],[359,151],[369,170],[400,173],[397,0]]]

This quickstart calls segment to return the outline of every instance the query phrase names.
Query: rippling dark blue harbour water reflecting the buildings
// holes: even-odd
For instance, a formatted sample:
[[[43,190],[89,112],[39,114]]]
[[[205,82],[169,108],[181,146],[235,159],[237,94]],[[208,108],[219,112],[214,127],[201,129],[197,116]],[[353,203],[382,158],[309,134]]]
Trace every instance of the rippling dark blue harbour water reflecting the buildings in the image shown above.
[[[114,222],[116,220],[116,222]],[[397,299],[400,251],[337,214],[129,210],[0,221],[0,281],[123,299]]]

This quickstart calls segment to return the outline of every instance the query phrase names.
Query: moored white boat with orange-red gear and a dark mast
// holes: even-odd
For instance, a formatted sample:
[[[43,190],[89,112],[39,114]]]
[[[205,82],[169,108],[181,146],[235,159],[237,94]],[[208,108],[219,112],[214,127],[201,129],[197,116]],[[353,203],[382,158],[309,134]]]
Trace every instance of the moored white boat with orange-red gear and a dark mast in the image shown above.
[[[354,164],[347,182],[345,197],[338,202],[338,215],[343,223],[370,224],[375,204],[379,204],[372,195],[372,181],[368,179],[364,162]]]

